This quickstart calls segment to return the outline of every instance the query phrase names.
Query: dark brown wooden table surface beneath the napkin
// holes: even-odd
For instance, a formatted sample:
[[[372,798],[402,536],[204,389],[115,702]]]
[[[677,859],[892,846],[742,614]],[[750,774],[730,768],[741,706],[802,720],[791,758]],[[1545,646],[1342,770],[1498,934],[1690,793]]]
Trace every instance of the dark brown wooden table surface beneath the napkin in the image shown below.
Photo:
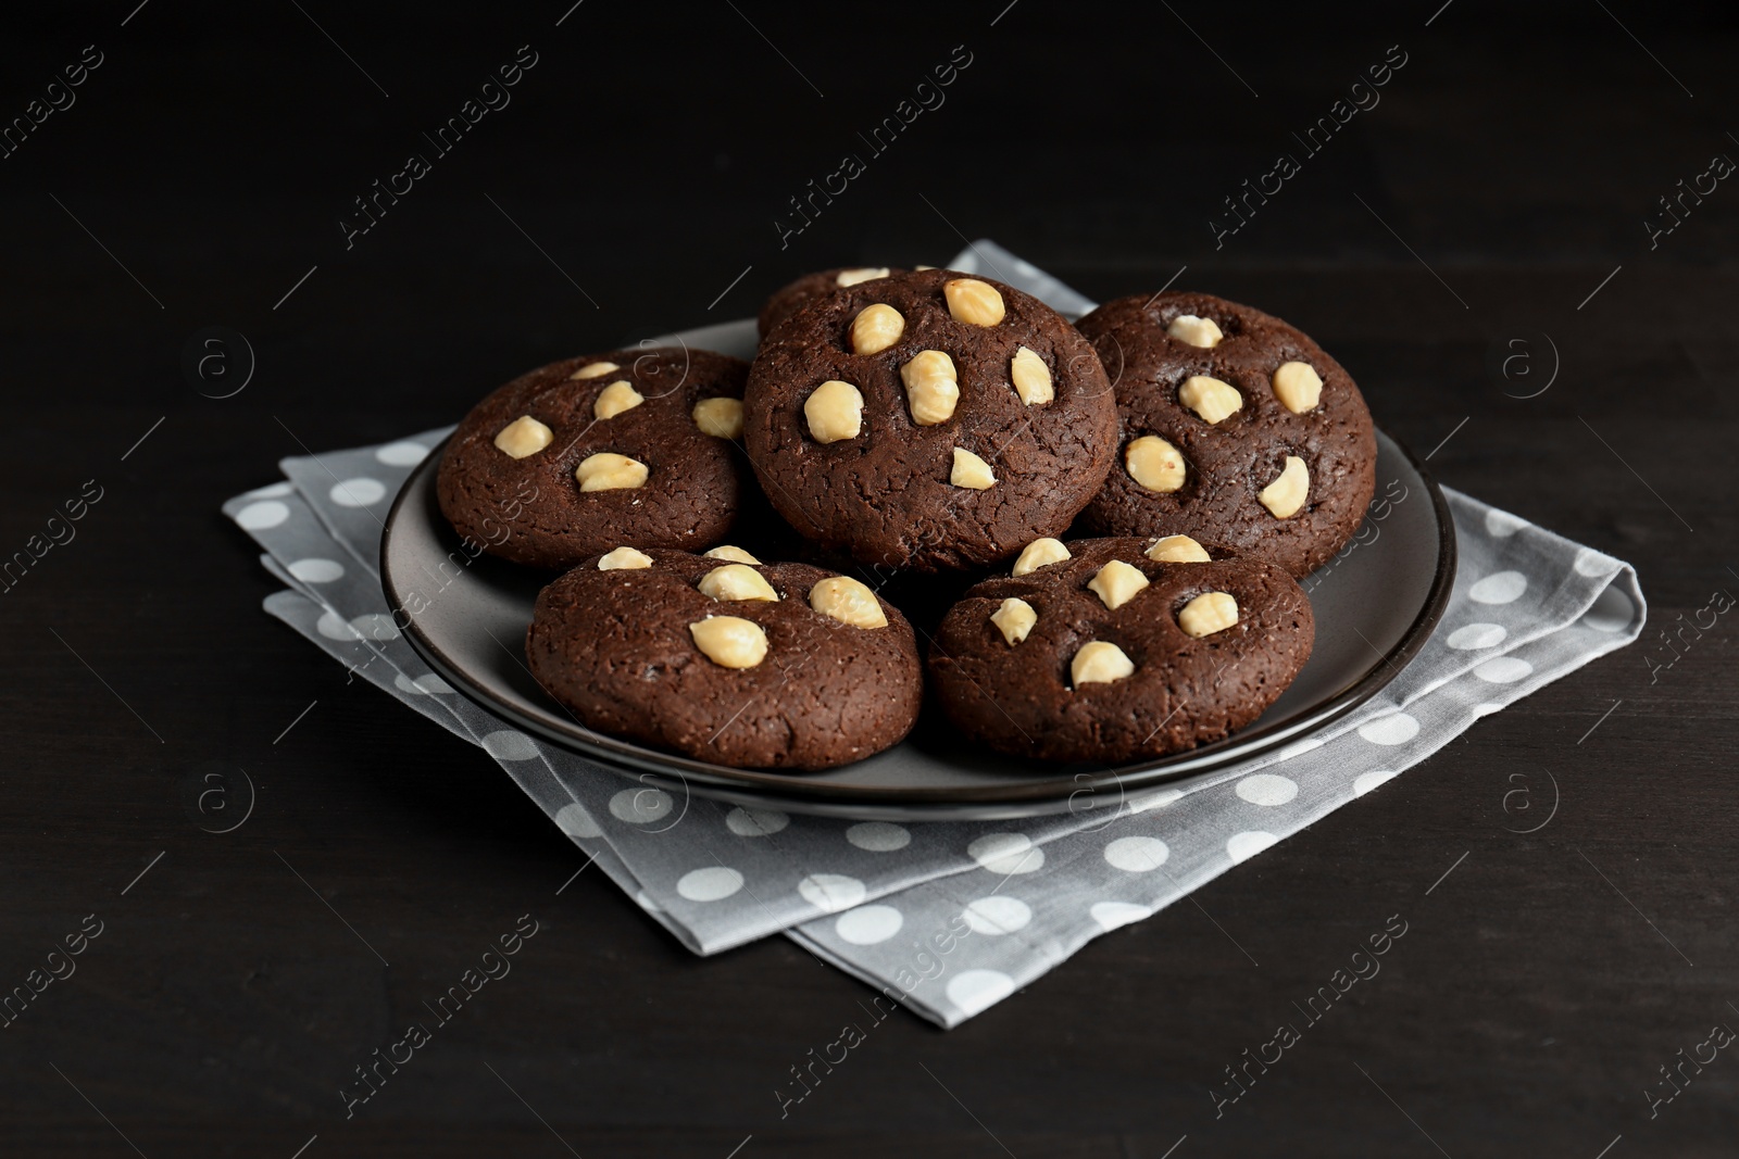
[[[0,1030],[3,1154],[1739,1149],[1734,1051],[1645,1095],[1739,1027],[1739,619],[1657,636],[1739,593],[1730,7],[569,2],[9,21],[0,116],[42,122],[0,160],[0,553],[101,499],[0,594],[0,990],[77,968]],[[409,189],[363,231],[377,179]],[[1231,231],[1247,179],[1273,193]],[[1202,890],[1259,966],[1174,905],[958,1030],[890,1018],[781,1119],[868,990],[783,938],[692,957],[598,874],[556,897],[574,846],[268,619],[217,504],[299,443],[965,236],[1299,323],[1442,481],[1635,563],[1650,629]],[[252,348],[230,398],[233,339],[230,379],[183,370],[205,327]],[[256,787],[228,834],[212,770],[226,817]],[[346,1119],[353,1067],[527,912],[513,975]],[[1389,914],[1381,977],[1216,1119]]]

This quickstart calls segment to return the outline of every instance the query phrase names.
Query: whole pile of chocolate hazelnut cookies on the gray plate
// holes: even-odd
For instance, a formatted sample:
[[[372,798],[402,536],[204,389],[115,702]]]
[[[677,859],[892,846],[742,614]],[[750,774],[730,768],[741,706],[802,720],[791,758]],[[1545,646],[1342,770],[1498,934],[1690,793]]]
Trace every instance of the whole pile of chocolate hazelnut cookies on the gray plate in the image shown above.
[[[925,268],[809,275],[760,327],[753,363],[543,367],[447,445],[447,520],[567,568],[527,660],[584,725],[718,765],[830,768],[913,728],[927,667],[979,744],[1123,763],[1228,737],[1304,666],[1296,579],[1363,518],[1376,436],[1301,332],[1203,294],[1069,325]],[[784,539],[800,561],[725,539]],[[944,598],[927,666],[896,591],[920,627]]]

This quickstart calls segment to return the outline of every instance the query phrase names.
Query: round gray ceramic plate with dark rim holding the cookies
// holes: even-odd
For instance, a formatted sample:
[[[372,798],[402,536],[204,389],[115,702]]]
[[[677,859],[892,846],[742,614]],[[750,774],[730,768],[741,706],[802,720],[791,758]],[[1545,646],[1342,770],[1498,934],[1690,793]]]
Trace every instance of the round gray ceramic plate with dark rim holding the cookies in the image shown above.
[[[750,358],[755,323],[678,335],[692,348]],[[1017,761],[972,747],[934,709],[904,742],[821,773],[708,765],[591,732],[525,667],[525,627],[548,572],[464,560],[435,502],[431,454],[386,518],[381,582],[393,608],[428,606],[405,638],[447,683],[518,728],[638,780],[739,805],[883,820],[991,820],[1111,805],[1137,789],[1212,772],[1297,740],[1383,688],[1429,638],[1456,577],[1456,533],[1436,485],[1377,431],[1377,499],[1353,542],[1304,580],[1316,646],[1290,688],[1249,728],[1217,744],[1109,768]],[[744,544],[755,549],[755,544]],[[440,565],[447,565],[442,572]],[[436,579],[438,577],[438,579]],[[428,598],[431,582],[440,586]],[[423,599],[412,599],[412,606]]]

